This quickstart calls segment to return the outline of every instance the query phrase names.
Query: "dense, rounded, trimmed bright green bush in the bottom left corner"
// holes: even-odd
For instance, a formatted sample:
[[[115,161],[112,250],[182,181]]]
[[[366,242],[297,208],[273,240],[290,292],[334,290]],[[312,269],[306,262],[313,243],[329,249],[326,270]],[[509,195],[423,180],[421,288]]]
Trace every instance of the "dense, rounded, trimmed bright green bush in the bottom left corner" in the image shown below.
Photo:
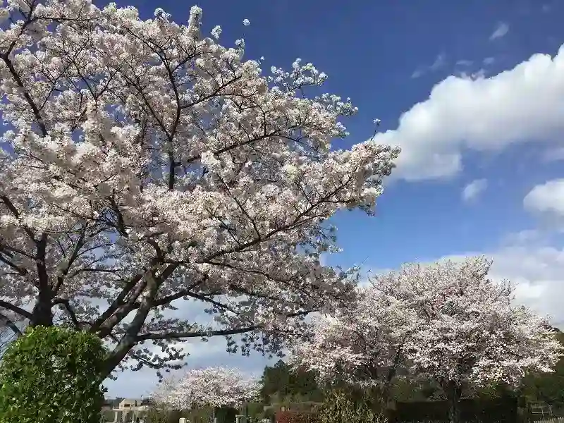
[[[0,364],[0,423],[99,423],[105,354],[90,333],[28,328]]]

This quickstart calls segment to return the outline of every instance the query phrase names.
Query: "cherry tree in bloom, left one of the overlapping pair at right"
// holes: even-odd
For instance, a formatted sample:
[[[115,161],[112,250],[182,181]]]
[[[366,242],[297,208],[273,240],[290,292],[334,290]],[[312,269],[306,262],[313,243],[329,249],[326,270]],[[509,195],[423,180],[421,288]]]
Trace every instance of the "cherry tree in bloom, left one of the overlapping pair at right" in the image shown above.
[[[393,379],[405,368],[405,343],[417,316],[403,303],[372,287],[333,315],[314,316],[306,341],[294,343],[290,363],[317,374],[321,384],[360,386],[386,403]]]

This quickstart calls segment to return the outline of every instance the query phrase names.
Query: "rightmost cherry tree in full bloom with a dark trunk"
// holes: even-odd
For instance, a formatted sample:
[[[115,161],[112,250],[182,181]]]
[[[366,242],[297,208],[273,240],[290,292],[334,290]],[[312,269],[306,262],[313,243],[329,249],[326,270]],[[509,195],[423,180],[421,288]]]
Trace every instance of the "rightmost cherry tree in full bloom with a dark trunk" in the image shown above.
[[[372,280],[415,315],[403,347],[410,369],[439,383],[453,423],[464,386],[516,386],[527,372],[553,372],[564,353],[546,317],[513,305],[514,286],[489,279],[490,266],[484,257],[406,264]]]

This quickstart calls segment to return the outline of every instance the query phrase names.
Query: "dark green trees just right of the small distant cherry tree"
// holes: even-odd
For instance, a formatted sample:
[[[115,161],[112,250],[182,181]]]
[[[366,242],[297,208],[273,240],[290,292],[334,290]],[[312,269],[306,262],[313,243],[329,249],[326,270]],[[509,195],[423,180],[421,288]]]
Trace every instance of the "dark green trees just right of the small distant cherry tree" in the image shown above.
[[[312,372],[292,372],[282,360],[274,364],[274,367],[264,368],[260,394],[267,404],[294,400],[323,400],[323,393],[317,386]]]

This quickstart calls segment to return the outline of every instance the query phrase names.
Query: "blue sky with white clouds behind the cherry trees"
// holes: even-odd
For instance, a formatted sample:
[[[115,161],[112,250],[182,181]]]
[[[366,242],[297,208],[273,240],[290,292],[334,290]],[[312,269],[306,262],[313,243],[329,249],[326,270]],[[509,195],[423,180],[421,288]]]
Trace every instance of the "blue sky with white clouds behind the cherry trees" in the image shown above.
[[[117,3],[137,7],[142,18],[161,7],[179,23],[192,6]],[[563,325],[563,2],[198,5],[204,32],[221,25],[226,45],[244,37],[246,57],[264,56],[264,70],[290,68],[300,57],[326,72],[325,90],[351,97],[360,109],[345,122],[351,135],[340,147],[366,140],[372,119],[380,118],[379,140],[403,148],[376,216],[343,212],[334,219],[343,253],[329,257],[329,264],[389,269],[486,254],[495,260],[494,277],[519,283],[517,300]],[[260,372],[266,362],[257,354],[228,355],[222,339],[195,343],[190,351],[191,367],[224,364]],[[109,394],[139,396],[155,382],[152,372],[122,374],[108,384]]]

